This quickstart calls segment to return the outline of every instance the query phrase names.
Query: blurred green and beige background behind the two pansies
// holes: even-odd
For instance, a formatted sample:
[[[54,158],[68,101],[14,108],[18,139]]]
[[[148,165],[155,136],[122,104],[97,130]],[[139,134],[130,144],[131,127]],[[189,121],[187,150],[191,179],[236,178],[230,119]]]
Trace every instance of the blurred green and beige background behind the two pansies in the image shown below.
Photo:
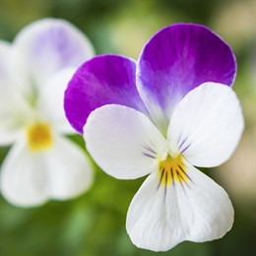
[[[153,33],[177,22],[207,25],[233,48],[238,62],[233,89],[241,100],[246,128],[232,158],[207,173],[229,194],[235,223],[223,239],[183,242],[160,255],[256,253],[255,10],[254,0],[0,0],[0,37],[9,41],[32,21],[56,17],[85,32],[97,54],[114,52],[137,59]],[[84,148],[80,136],[71,139]],[[0,150],[2,161],[9,148]],[[75,200],[22,209],[0,197],[0,255],[157,255],[135,247],[125,231],[128,206],[145,178],[116,180],[97,167],[95,174],[93,188]]]

